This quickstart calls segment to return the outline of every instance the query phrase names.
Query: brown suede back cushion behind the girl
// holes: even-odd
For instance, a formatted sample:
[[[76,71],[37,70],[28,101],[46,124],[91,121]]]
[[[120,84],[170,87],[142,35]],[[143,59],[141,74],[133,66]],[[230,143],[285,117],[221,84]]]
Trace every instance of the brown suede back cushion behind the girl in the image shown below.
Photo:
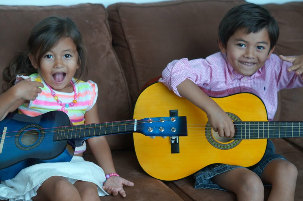
[[[88,76],[84,80],[91,79],[98,84],[100,120],[105,122],[132,118],[125,75],[112,48],[107,12],[101,4],[0,6],[0,71],[8,66],[18,52],[26,50],[34,25],[50,15],[72,18],[82,33],[89,58]],[[3,84],[3,79],[0,79],[0,84]],[[109,136],[108,140],[112,149],[129,147],[131,135]]]

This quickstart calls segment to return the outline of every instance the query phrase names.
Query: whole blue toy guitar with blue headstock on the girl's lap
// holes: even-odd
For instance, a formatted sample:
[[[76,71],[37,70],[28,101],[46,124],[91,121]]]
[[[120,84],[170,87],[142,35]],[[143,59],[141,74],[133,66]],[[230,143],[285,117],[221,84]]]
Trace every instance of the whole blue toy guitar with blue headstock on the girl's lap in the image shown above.
[[[186,117],[153,117],[73,126],[62,111],[37,117],[9,113],[0,122],[0,180],[23,168],[70,161],[75,147],[91,137],[138,132],[146,136],[187,136]]]

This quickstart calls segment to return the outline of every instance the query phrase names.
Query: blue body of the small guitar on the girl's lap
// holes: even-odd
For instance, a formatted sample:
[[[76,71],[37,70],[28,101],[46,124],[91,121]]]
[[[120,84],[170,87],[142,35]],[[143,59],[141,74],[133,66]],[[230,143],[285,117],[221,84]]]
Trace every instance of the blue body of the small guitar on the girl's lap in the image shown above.
[[[0,180],[11,179],[23,168],[34,164],[70,161],[75,141],[53,141],[55,127],[69,125],[70,120],[64,112],[52,111],[37,117],[9,113],[0,122],[0,132],[6,128],[5,138],[3,133],[1,138],[4,142],[0,154]],[[16,128],[23,130],[16,134]],[[51,129],[45,132],[43,128]],[[33,130],[35,134],[32,134]]]

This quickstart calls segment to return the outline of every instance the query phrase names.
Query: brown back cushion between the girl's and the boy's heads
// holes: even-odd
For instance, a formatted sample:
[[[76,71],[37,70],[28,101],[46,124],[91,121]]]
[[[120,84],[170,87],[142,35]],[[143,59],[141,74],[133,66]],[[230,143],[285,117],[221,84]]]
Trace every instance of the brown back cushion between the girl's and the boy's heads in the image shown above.
[[[204,58],[219,51],[221,18],[244,2],[177,0],[108,6],[113,47],[125,71],[132,102],[145,82],[161,75],[170,61]]]

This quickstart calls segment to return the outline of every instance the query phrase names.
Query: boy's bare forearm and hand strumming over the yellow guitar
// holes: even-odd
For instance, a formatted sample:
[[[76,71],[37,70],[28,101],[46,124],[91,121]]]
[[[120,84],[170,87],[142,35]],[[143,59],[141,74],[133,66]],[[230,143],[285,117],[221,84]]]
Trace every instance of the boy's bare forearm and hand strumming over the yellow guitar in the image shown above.
[[[177,86],[177,89],[182,97],[185,97],[206,113],[211,126],[214,131],[218,131],[220,137],[233,137],[235,135],[235,127],[231,118],[194,82],[185,79]]]

